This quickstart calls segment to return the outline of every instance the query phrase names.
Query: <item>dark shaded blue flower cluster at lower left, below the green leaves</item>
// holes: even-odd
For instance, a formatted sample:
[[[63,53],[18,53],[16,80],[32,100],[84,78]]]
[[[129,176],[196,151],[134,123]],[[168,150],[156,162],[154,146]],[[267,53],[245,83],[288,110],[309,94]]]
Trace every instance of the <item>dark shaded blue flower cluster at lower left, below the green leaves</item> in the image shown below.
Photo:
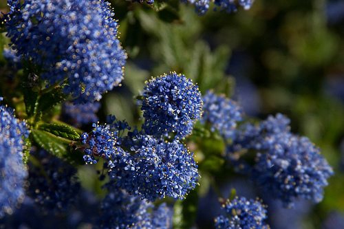
[[[66,210],[74,204],[80,183],[76,168],[46,151],[32,153],[39,164],[29,163],[27,195],[43,212]]]

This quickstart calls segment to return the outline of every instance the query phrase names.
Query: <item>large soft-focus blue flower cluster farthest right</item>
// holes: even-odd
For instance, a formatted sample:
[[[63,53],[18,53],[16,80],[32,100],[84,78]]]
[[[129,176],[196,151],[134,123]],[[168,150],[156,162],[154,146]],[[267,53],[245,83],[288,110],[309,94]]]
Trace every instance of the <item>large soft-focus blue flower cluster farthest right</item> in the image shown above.
[[[273,197],[286,206],[299,197],[316,203],[323,199],[333,171],[308,138],[275,133],[266,136],[257,151],[252,177]]]

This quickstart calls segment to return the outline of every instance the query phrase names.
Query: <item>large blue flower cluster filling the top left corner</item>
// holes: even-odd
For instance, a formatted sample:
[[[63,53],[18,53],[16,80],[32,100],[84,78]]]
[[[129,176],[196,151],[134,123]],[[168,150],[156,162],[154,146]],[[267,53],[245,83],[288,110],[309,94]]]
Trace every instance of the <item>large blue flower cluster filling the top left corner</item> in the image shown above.
[[[76,102],[100,100],[120,84],[127,58],[118,23],[104,0],[9,1],[7,30],[23,58],[45,69],[41,78],[65,83]]]

